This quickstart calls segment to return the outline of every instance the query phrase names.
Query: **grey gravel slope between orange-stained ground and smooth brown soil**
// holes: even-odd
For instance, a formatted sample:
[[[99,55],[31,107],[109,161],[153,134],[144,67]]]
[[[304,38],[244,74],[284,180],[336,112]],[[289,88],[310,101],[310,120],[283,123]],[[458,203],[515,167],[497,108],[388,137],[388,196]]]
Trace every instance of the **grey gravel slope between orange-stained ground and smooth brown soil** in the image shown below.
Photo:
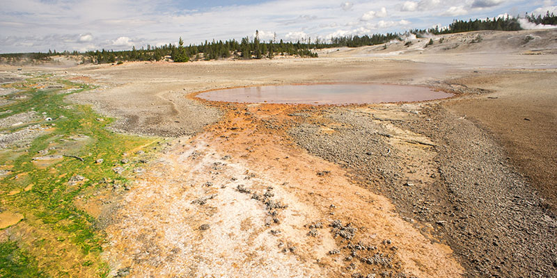
[[[424,231],[433,227],[460,257],[466,277],[555,277],[554,215],[492,136],[472,122],[439,104],[394,120],[351,108],[315,113],[320,116],[299,117],[303,123],[290,136],[311,154],[348,167],[407,220],[425,223]],[[322,132],[331,125],[340,127]],[[393,126],[434,142],[427,147],[432,159],[414,162],[435,171],[416,180],[403,166],[411,164],[404,145],[391,140]]]

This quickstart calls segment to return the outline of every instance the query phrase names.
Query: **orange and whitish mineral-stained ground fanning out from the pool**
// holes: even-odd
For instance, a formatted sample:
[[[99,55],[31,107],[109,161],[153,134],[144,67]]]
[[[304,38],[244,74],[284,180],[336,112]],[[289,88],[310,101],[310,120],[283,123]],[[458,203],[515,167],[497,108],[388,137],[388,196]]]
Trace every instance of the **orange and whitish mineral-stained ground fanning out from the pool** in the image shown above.
[[[267,129],[283,109],[233,108],[168,147],[107,229],[114,269],[130,267],[133,277],[460,276],[450,248],[402,220],[388,199]]]

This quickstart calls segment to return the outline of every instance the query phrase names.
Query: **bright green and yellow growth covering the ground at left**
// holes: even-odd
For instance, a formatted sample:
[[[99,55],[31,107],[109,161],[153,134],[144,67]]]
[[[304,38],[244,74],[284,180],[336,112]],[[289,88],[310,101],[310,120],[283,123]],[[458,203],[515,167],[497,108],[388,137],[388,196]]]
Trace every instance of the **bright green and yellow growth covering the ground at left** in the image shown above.
[[[38,89],[40,85],[37,84],[53,82],[63,84],[64,88]],[[101,277],[107,275],[107,266],[100,261],[98,256],[102,252],[101,246],[105,242],[104,234],[94,228],[96,219],[77,208],[74,200],[77,196],[100,190],[101,187],[97,185],[102,179],[127,182],[125,177],[112,170],[113,167],[119,165],[124,153],[149,145],[155,142],[155,138],[114,133],[106,128],[107,124],[112,122],[110,118],[102,118],[90,106],[71,105],[64,101],[64,97],[68,94],[93,89],[89,85],[58,80],[50,74],[45,74],[33,76],[24,82],[13,83],[10,86],[22,91],[8,95],[5,99],[16,99],[17,95],[28,97],[17,99],[14,104],[0,108],[0,113],[4,112],[0,118],[36,111],[42,119],[50,117],[52,121],[40,120],[38,124],[48,129],[25,147],[26,152],[22,152],[21,148],[17,149],[17,156],[13,155],[16,148],[10,149],[8,152],[0,152],[0,163],[11,165],[10,174],[1,178],[0,190],[3,191],[1,197],[5,202],[0,208],[32,215],[31,218],[26,217],[24,220],[26,224],[33,229],[52,232],[56,235],[54,236],[56,242],[70,242],[78,247],[81,252],[79,258],[82,258],[82,261],[77,258],[76,263],[80,267],[91,268],[91,272],[95,272]],[[68,89],[73,90],[61,93],[67,92]],[[6,111],[8,112],[6,113]],[[97,120],[100,118],[103,120]],[[32,124],[24,124],[3,132],[25,129],[29,125]],[[65,143],[80,140],[79,138],[87,138],[87,140],[83,144]],[[84,161],[64,157],[62,161],[48,167],[38,167],[33,163],[33,157],[39,156],[39,151],[51,147],[55,149],[49,150],[49,154],[71,154],[83,158]],[[95,160],[99,158],[102,158],[104,162],[95,163]],[[85,177],[86,181],[70,185],[69,179],[78,174]],[[24,188],[30,183],[33,184],[32,189],[24,191]],[[21,192],[8,196],[10,190],[21,190]],[[16,252],[13,249],[15,246],[13,243],[1,244],[6,245],[0,249],[0,257],[3,260]],[[40,258],[42,254],[34,255]],[[27,257],[22,256],[22,258]],[[6,261],[6,263],[8,262]],[[39,265],[43,264],[39,263]],[[15,269],[15,266],[13,268]],[[0,275],[0,277],[3,276]]]

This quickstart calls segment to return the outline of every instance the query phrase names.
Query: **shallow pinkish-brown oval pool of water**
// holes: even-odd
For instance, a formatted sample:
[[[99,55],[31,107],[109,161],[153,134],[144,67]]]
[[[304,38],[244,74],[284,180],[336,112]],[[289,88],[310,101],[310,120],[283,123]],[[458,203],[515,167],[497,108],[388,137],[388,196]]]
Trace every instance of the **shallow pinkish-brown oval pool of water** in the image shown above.
[[[202,92],[211,101],[271,104],[377,104],[444,99],[453,94],[430,88],[384,84],[272,85]]]

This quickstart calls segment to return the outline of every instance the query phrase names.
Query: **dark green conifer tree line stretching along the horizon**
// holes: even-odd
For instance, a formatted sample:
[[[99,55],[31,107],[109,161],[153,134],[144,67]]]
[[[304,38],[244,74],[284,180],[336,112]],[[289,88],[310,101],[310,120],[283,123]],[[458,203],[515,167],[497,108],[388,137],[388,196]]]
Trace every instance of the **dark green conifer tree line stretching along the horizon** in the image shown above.
[[[557,25],[557,16],[547,12],[544,17],[541,15],[527,15],[524,17],[529,22],[535,24]],[[496,30],[496,31],[519,31],[522,30],[519,17],[494,17],[493,19],[469,19],[455,20],[448,28],[428,28],[428,29],[411,29],[409,33],[421,37],[426,33],[433,35],[442,35],[448,33],[462,33],[470,31]],[[300,57],[317,57],[315,49],[323,49],[328,47],[363,47],[377,44],[384,44],[392,40],[402,40],[401,33],[386,33],[372,35],[347,35],[331,38],[329,41],[317,38],[312,42],[311,38],[303,39],[302,42],[284,42],[280,40],[276,42],[275,38],[267,42],[260,40],[259,33],[253,39],[249,37],[242,38],[240,42],[237,40],[203,42],[201,44],[184,45],[182,38],[178,41],[178,45],[165,44],[160,47],[152,47],[149,44],[147,48],[141,47],[124,51],[108,51],[105,49],[97,51],[86,51],[78,53],[77,51],[63,51],[57,53],[56,50],[48,53],[26,53],[26,54],[0,54],[1,58],[6,60],[20,60],[22,58],[31,58],[33,60],[50,60],[51,56],[57,55],[73,55],[82,56],[82,63],[123,63],[124,61],[159,61],[171,58],[174,62],[187,62],[191,60],[217,60],[221,58],[237,58],[237,59],[262,59],[274,58],[274,56],[300,56]],[[275,36],[276,37],[276,36]]]

